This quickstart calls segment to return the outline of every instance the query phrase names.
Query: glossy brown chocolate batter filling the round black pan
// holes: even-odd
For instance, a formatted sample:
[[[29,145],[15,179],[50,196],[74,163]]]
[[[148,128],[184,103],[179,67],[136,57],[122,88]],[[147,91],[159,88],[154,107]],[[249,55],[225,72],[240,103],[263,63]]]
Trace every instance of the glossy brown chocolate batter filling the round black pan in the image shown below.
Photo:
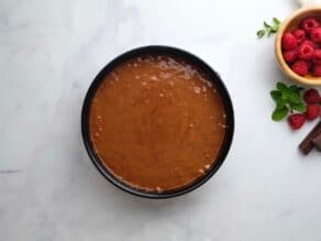
[[[152,193],[203,176],[225,128],[215,86],[190,64],[165,55],[117,66],[98,87],[89,116],[92,146],[106,168]]]

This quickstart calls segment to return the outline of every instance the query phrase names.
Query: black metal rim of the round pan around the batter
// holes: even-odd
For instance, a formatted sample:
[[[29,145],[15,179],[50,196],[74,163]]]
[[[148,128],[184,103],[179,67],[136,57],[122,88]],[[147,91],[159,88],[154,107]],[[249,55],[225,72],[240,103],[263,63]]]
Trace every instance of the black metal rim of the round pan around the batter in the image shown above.
[[[126,185],[125,183],[122,183],[119,178],[113,176],[100,162],[99,157],[96,155],[93,147],[91,145],[90,141],[90,134],[89,134],[89,112],[90,112],[90,105],[92,97],[103,80],[103,77],[110,73],[118,64],[134,57],[134,56],[140,56],[142,54],[153,54],[153,53],[159,53],[159,54],[170,54],[175,56],[180,56],[184,57],[185,59],[192,62],[192,64],[196,64],[196,66],[200,67],[203,72],[206,72],[210,80],[215,84],[217,89],[219,90],[222,102],[225,109],[225,114],[226,114],[226,132],[225,136],[222,143],[222,147],[219,152],[219,155],[217,156],[217,161],[214,165],[212,165],[211,169],[193,182],[192,184],[188,185],[187,187],[179,188],[169,193],[147,193],[144,190],[135,189],[131,187],[130,185]],[[230,94],[223,84],[222,79],[220,76],[207,64],[204,63],[201,58],[197,57],[196,55],[186,52],[184,50],[173,47],[173,46],[165,46],[165,45],[147,45],[147,46],[141,46],[136,47],[133,50],[130,50],[115,58],[113,58],[111,62],[109,62],[100,72],[99,74],[95,77],[95,79],[91,81],[84,103],[82,103],[82,110],[81,110],[81,135],[82,135],[82,141],[85,144],[85,147],[87,150],[87,153],[93,163],[93,165],[97,167],[97,169],[100,172],[102,176],[106,177],[111,184],[117,186],[118,188],[124,190],[125,193],[139,196],[139,197],[144,197],[144,198],[152,198],[152,199],[163,199],[163,198],[171,198],[171,197],[177,197],[184,194],[187,194],[198,187],[200,187],[202,184],[204,184],[207,180],[209,180],[215,173],[221,167],[223,164],[232,141],[233,141],[233,134],[234,134],[234,110],[233,110],[233,105],[232,100],[230,97]]]

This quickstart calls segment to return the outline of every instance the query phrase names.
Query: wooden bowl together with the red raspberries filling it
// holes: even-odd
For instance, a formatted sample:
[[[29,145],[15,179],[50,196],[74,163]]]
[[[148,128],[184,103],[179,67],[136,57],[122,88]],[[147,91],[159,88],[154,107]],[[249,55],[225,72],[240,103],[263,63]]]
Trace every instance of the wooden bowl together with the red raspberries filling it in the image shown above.
[[[276,36],[275,53],[290,78],[321,86],[321,7],[300,9],[285,20]]]

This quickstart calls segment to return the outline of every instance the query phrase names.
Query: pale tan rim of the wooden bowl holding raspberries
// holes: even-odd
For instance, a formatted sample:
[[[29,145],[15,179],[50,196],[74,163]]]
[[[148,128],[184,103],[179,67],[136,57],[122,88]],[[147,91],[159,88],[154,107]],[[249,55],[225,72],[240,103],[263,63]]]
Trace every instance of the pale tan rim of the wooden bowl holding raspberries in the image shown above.
[[[285,62],[283,57],[283,52],[281,52],[281,37],[288,26],[288,24],[294,21],[294,19],[302,15],[302,14],[309,14],[309,12],[318,12],[320,11],[321,13],[321,6],[314,6],[314,7],[306,7],[296,10],[292,12],[286,20],[284,20],[279,26],[279,30],[277,32],[277,35],[275,37],[275,55],[277,58],[277,63],[280,67],[280,69],[291,79],[302,84],[302,85],[310,85],[310,86],[319,86],[321,85],[321,77],[316,77],[313,79],[308,79],[305,76],[299,76],[297,75],[290,67],[289,65]],[[313,13],[311,13],[313,15]],[[321,14],[320,14],[321,15]]]

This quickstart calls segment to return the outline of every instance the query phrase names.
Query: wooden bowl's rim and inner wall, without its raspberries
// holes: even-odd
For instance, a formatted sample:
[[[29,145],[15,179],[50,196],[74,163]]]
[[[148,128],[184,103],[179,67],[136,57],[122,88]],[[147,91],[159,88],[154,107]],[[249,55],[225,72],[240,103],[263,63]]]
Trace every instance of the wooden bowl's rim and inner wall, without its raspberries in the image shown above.
[[[319,7],[310,7],[303,8],[295,11],[288,19],[286,19],[279,26],[278,33],[275,39],[275,54],[277,62],[281,68],[281,70],[289,76],[291,79],[303,84],[303,85],[311,85],[311,86],[321,86],[321,77],[314,77],[310,74],[306,76],[299,76],[295,72],[291,70],[289,65],[285,62],[283,52],[281,52],[281,37],[286,32],[290,32],[295,30],[300,22],[307,18],[313,17],[321,20],[321,6]],[[320,21],[321,22],[321,21]]]

